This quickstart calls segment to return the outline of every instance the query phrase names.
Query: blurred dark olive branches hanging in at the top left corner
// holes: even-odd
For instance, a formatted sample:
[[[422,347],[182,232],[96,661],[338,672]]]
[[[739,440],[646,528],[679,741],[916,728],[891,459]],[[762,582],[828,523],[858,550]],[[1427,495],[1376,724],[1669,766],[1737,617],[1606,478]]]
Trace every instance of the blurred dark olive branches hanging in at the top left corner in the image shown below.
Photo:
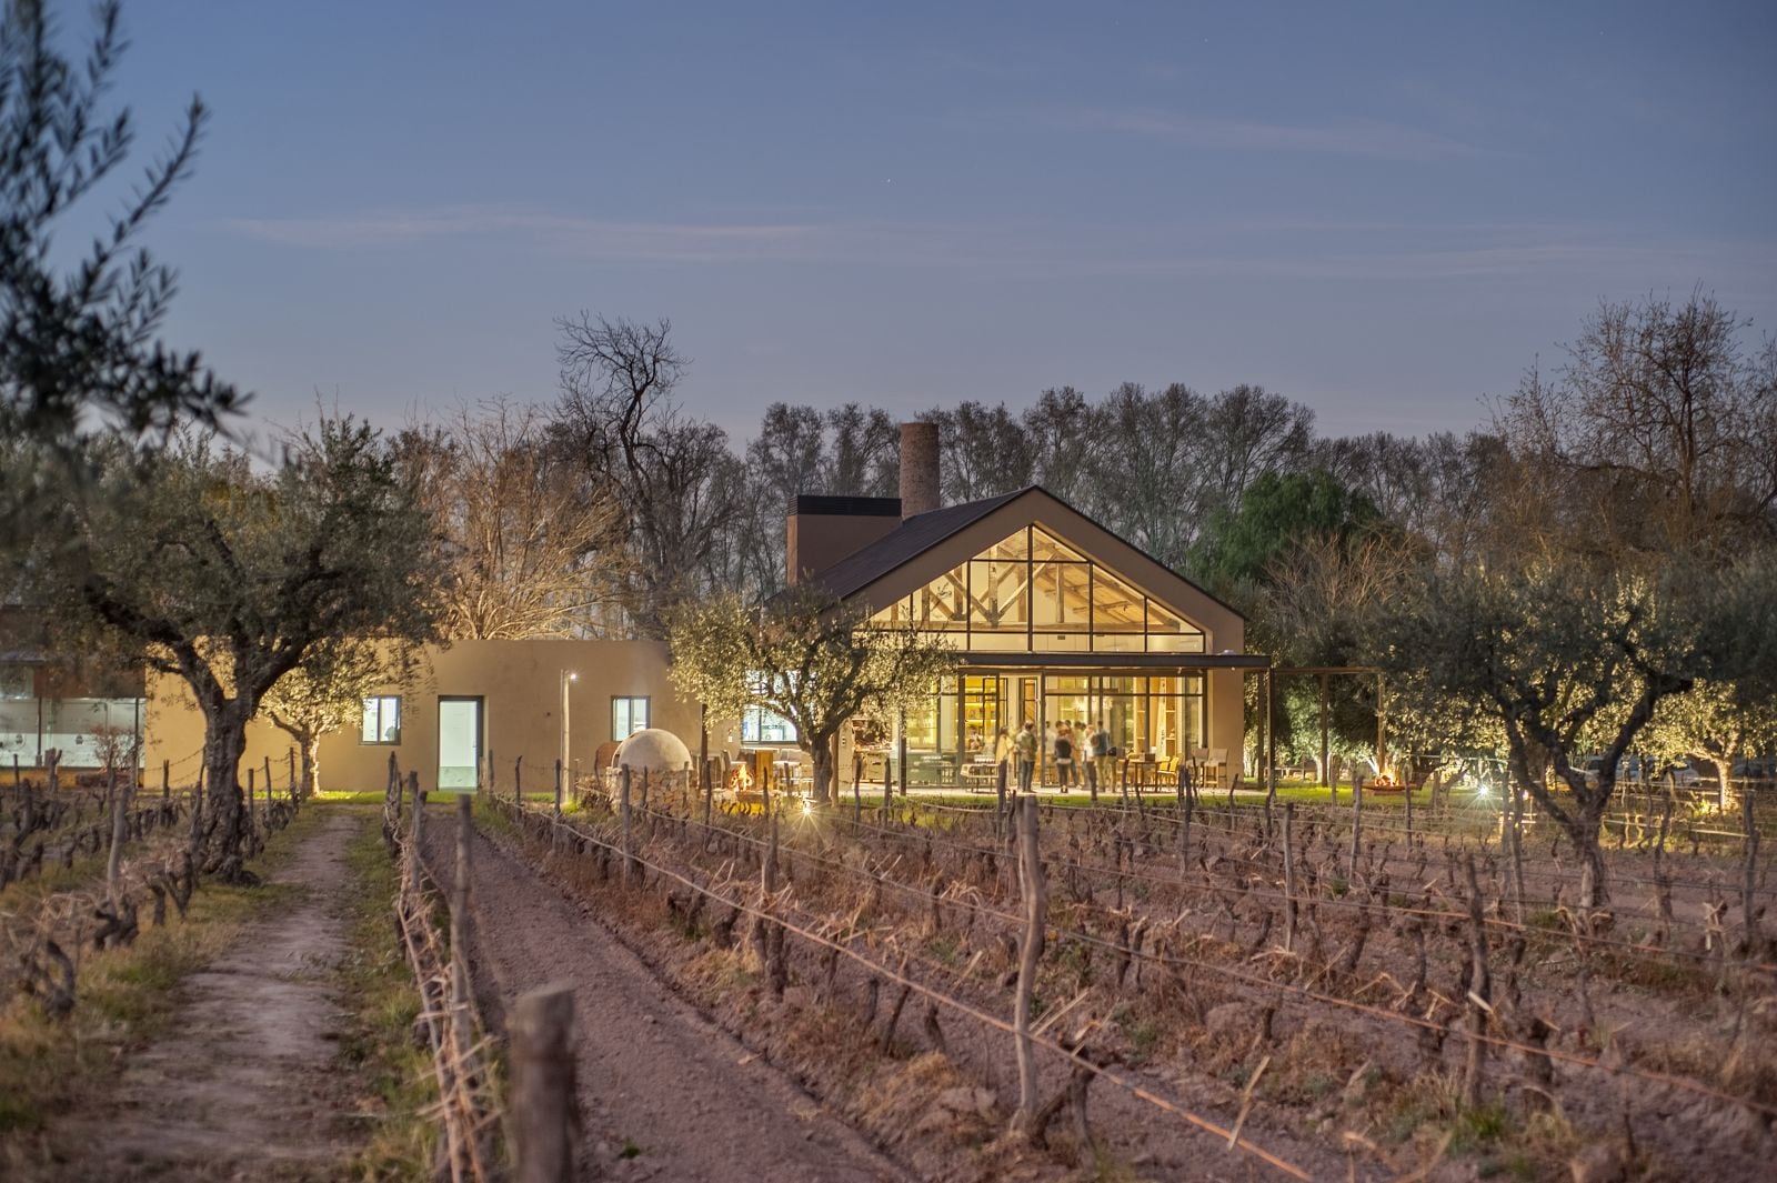
[[[197,353],[156,339],[176,277],[140,245],[190,174],[204,108],[192,99],[121,208],[84,222],[117,190],[135,146],[128,108],[105,101],[124,48],[119,4],[98,5],[84,60],[62,52],[48,7],[9,0],[0,11],[0,544],[21,549],[53,538],[41,512],[55,481],[80,472],[80,442],[94,432],[163,439],[243,403]],[[57,231],[64,242],[52,249]],[[91,245],[69,250],[68,238]],[[46,455],[14,453],[25,442]]]

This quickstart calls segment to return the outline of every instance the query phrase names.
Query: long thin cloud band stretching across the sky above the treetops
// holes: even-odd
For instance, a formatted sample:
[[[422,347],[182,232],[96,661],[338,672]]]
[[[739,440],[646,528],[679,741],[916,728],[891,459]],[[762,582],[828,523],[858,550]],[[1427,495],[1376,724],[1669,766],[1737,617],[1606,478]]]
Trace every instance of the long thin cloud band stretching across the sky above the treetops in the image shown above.
[[[1765,243],[1649,243],[1630,227],[1231,218],[1189,226],[1043,222],[629,222],[530,210],[444,208],[338,218],[235,218],[229,229],[304,250],[505,236],[528,250],[663,265],[869,265],[984,279],[1198,275],[1381,282],[1537,282],[1558,275],[1738,275],[1777,265]],[[1288,233],[1290,242],[1279,242]],[[1237,245],[1239,243],[1239,245]],[[1242,249],[1249,247],[1249,249]]]

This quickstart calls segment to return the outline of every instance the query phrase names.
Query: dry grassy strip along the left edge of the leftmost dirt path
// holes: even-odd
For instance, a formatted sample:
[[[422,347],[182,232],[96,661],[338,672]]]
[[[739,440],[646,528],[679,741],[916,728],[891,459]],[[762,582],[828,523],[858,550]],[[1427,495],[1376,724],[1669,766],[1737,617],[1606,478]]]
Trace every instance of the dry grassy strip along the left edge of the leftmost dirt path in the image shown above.
[[[316,810],[299,814],[272,835],[252,869],[274,870],[316,824]],[[249,920],[286,908],[297,895],[283,885],[204,881],[183,922],[172,917],[165,927],[144,927],[128,949],[80,950],[78,1002],[66,1020],[44,1016],[27,995],[12,996],[0,1009],[0,1176],[12,1167],[23,1174],[27,1142],[41,1153],[50,1117],[94,1103],[128,1052],[167,1034],[187,975],[210,965]]]

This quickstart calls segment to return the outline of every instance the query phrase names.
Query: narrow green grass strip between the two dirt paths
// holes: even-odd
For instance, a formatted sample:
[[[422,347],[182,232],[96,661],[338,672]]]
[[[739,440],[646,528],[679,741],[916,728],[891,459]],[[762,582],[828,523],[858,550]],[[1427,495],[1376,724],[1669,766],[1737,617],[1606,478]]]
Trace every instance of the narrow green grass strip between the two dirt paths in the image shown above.
[[[357,1082],[370,1140],[352,1163],[364,1179],[430,1179],[437,1128],[423,1110],[437,1101],[430,1052],[416,1037],[419,991],[393,936],[398,874],[370,815],[347,847],[348,950],[341,993],[350,1020],[339,1059]]]

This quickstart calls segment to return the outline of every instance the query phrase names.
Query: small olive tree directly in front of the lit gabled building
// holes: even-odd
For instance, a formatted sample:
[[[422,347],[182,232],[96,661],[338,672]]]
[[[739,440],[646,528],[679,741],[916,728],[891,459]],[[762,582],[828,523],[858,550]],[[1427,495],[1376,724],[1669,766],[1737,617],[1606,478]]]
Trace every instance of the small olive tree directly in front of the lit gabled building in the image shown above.
[[[764,707],[796,726],[814,760],[814,796],[832,801],[833,737],[860,714],[931,693],[954,666],[947,645],[869,623],[867,609],[798,584],[761,607],[721,593],[668,618],[672,682],[713,709]]]

